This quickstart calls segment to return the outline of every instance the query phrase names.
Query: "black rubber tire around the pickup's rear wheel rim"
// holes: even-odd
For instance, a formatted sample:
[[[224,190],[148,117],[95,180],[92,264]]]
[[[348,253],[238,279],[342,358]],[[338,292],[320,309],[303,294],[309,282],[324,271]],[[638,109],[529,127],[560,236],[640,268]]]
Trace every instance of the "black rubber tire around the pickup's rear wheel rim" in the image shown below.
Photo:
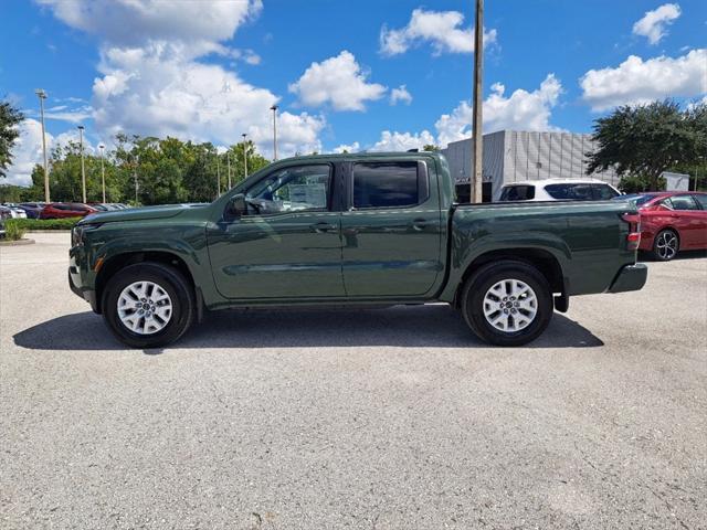
[[[494,327],[484,315],[486,294],[504,280],[519,280],[535,294],[535,317],[523,329],[503,331]],[[498,304],[506,304],[499,299]],[[513,303],[515,304],[515,301]],[[499,309],[502,311],[503,309]],[[519,309],[509,309],[518,310]],[[489,263],[472,275],[462,288],[462,315],[472,331],[485,342],[496,346],[523,346],[537,339],[552,318],[552,292],[545,276],[526,262],[504,259]],[[520,315],[518,312],[518,315]],[[524,316],[525,317],[525,316]],[[510,317],[516,318],[515,316]]]

